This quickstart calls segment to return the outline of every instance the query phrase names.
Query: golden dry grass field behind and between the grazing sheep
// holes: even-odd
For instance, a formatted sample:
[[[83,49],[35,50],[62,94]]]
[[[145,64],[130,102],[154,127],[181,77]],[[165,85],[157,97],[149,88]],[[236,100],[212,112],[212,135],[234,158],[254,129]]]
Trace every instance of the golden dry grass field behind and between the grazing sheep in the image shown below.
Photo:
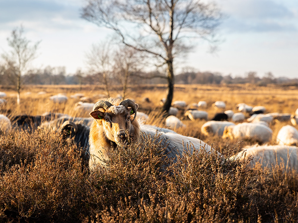
[[[11,110],[10,115],[16,114],[31,114],[40,115],[44,112],[60,112],[69,114],[71,116],[89,117],[88,114],[77,114],[74,110],[75,103],[79,99],[70,98],[75,93],[82,93],[85,96],[90,97],[89,102],[97,102],[100,99],[105,98],[105,91],[103,86],[83,86],[80,90],[78,86],[25,86],[21,93],[21,106],[14,109],[16,104],[16,93],[13,90],[5,91],[8,95],[8,102],[2,108],[5,110]],[[117,97],[121,95],[121,87],[111,87],[111,97]],[[2,90],[4,91],[4,90]],[[47,92],[44,95],[38,95],[38,92]],[[31,92],[31,94],[27,94]],[[55,94],[65,94],[69,100],[65,104],[55,104],[49,100],[49,97]],[[234,85],[176,85],[173,101],[184,100],[187,104],[198,103],[198,101],[207,101],[208,106],[205,110],[208,112],[208,117],[211,119],[216,112],[220,112],[212,108],[212,103],[217,100],[222,100],[226,103],[225,110],[233,110],[238,112],[236,105],[238,103],[246,103],[250,106],[265,106],[266,113],[279,112],[279,113],[291,113],[295,114],[298,108],[298,88],[296,86],[279,86],[270,85],[268,87],[257,86],[253,84],[234,84]],[[150,98],[150,102],[144,102],[144,98]],[[163,126],[164,119],[156,117],[158,115],[161,105],[159,101],[166,97],[166,86],[130,86],[128,89],[127,98],[135,100],[139,104],[138,111],[145,112],[152,117],[147,124],[153,124],[157,126]],[[5,112],[4,112],[5,114]],[[229,143],[229,146],[236,147],[238,141],[221,139],[218,137],[207,137],[201,134],[201,126],[206,122],[204,120],[197,120],[195,122],[189,120],[183,116],[181,111],[178,117],[184,124],[187,125],[186,129],[176,129],[177,132],[197,137],[204,142],[215,142],[216,145],[222,150]],[[270,125],[273,131],[273,137],[269,144],[274,145],[276,136],[280,128],[284,125],[291,125],[289,122],[274,122]],[[243,142],[241,145],[249,145],[252,142]]]

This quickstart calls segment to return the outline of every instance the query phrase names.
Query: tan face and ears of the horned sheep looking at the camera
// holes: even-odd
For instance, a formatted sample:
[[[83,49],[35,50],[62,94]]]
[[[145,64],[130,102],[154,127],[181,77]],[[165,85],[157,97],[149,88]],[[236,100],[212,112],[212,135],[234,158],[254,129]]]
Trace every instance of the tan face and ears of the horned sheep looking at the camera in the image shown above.
[[[136,104],[136,108],[138,105]],[[127,145],[130,138],[134,138],[135,128],[132,125],[131,115],[134,111],[131,107],[113,105],[108,109],[95,110],[90,115],[98,125],[103,127],[105,136],[116,144]]]

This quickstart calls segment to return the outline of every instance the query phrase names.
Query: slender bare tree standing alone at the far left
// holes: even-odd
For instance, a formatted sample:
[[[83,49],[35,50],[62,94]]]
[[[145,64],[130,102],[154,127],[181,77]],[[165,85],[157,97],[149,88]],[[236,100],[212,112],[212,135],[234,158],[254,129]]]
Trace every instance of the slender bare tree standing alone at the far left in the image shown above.
[[[4,52],[1,56],[5,60],[7,69],[10,70],[17,92],[17,104],[20,104],[21,76],[30,69],[30,62],[35,59],[40,41],[31,45],[31,41],[23,36],[24,29],[14,29],[10,38],[7,38],[8,45],[12,48],[10,52]]]

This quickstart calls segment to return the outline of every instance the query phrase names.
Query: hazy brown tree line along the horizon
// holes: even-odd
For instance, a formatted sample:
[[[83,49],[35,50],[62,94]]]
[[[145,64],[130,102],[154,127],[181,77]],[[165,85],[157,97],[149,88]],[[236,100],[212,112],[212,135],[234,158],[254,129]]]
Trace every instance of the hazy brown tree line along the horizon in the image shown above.
[[[256,72],[250,71],[243,76],[223,75],[219,72],[189,71],[184,69],[175,76],[176,84],[298,84],[298,78],[274,77],[271,72],[259,77]],[[190,69],[191,70],[191,69]],[[0,66],[0,85],[15,85],[15,79],[11,78],[5,67]],[[164,76],[164,78],[163,78]],[[128,84],[167,84],[165,74],[159,71],[142,72],[135,71],[128,76]],[[66,74],[65,67],[47,66],[42,70],[30,70],[22,76],[23,84],[59,85],[59,84],[103,84],[103,73],[82,73],[78,70],[75,74]],[[108,85],[123,85],[119,73],[110,72],[107,77]]]

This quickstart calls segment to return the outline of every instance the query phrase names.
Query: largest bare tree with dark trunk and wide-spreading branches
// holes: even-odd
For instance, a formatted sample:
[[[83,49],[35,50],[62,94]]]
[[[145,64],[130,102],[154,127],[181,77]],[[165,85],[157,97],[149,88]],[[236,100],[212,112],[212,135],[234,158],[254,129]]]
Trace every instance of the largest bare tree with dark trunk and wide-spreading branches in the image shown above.
[[[122,43],[167,67],[163,110],[168,111],[173,99],[175,56],[190,50],[190,38],[212,42],[222,16],[215,4],[203,0],[88,0],[82,17],[114,30]]]

